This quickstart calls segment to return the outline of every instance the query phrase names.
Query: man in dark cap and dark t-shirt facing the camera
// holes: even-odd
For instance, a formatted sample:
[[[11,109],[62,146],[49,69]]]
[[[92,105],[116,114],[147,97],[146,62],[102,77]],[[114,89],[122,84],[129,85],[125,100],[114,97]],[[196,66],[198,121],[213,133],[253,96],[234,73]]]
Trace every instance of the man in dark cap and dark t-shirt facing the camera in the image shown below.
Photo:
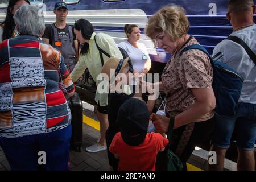
[[[78,42],[73,36],[72,27],[66,23],[68,15],[66,3],[56,2],[53,13],[56,15],[56,22],[46,27],[42,40],[61,52],[65,65],[71,72],[76,64]]]

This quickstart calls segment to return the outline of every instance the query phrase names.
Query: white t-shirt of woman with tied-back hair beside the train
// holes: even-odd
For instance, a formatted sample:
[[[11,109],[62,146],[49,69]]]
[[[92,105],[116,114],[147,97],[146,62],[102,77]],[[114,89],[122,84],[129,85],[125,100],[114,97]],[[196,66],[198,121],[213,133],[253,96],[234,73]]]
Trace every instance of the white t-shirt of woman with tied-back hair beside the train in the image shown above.
[[[132,46],[127,40],[118,44],[118,47],[125,49],[128,53],[131,63],[133,63],[134,71],[141,72],[145,67],[145,63],[150,59],[146,46],[137,42],[138,48]]]

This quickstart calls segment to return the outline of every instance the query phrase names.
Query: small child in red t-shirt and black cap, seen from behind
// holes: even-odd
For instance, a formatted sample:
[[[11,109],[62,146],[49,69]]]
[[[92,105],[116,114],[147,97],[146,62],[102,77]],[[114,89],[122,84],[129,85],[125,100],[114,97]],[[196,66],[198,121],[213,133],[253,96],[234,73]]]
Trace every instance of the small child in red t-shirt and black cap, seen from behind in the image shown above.
[[[119,159],[119,171],[155,171],[156,155],[169,141],[159,133],[147,133],[149,119],[144,101],[131,98],[120,107],[117,124],[121,132],[115,134],[109,147]]]

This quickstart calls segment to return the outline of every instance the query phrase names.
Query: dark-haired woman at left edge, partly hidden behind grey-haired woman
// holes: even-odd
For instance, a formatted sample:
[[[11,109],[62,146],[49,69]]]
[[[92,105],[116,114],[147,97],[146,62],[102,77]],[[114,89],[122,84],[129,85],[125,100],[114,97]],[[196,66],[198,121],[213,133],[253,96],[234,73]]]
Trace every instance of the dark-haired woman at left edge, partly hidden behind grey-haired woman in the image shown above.
[[[18,35],[15,28],[13,15],[22,5],[30,5],[28,0],[10,0],[7,7],[5,20],[0,26],[0,42]]]

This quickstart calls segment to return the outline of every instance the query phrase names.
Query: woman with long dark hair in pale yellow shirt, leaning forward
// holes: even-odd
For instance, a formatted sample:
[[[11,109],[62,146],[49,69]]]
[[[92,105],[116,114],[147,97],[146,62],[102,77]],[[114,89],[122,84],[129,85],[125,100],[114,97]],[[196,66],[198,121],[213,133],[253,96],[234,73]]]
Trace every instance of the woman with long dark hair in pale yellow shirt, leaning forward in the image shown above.
[[[103,33],[96,34],[94,32],[93,25],[85,19],[79,19],[75,22],[73,32],[76,35],[76,39],[82,45],[80,52],[80,59],[77,62],[75,68],[71,73],[72,81],[75,82],[88,68],[93,80],[98,85],[98,75],[101,73],[102,64],[104,64],[109,57],[102,54],[102,60],[100,53],[96,46],[100,47],[103,51],[108,53],[112,57],[123,59],[122,53],[114,42],[114,39]],[[104,63],[102,63],[102,62]],[[97,118],[100,121],[101,138],[98,143],[93,144],[86,148],[88,152],[99,152],[106,150],[106,129],[108,129],[108,93],[98,93],[98,89],[95,95],[95,107]]]

